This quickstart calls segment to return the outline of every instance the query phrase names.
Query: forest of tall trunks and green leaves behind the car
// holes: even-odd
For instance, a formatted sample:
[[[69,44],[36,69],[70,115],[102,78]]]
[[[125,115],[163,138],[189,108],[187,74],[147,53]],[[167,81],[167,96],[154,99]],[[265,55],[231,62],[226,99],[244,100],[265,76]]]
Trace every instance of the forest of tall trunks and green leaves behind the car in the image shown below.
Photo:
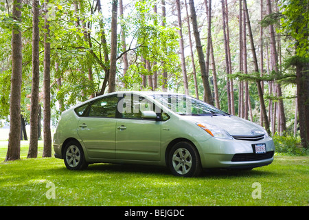
[[[119,90],[189,94],[309,146],[308,0],[1,0],[5,160],[51,157],[74,104]],[[41,135],[43,124],[43,135]]]

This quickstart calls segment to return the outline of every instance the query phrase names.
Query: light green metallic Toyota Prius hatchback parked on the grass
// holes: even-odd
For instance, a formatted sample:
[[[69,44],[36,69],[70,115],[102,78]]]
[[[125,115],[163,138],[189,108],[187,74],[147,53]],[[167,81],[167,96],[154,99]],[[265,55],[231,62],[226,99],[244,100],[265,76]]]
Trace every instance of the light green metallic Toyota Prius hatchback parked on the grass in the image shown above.
[[[69,170],[93,163],[147,164],[192,177],[206,168],[271,164],[275,146],[262,126],[190,96],[122,91],[63,112],[54,151]]]

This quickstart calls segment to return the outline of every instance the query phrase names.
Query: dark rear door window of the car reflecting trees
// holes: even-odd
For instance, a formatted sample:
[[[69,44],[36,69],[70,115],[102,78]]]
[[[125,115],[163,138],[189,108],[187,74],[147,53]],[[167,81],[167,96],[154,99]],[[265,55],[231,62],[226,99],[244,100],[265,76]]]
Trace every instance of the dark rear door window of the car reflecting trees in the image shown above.
[[[117,96],[95,100],[89,109],[89,117],[116,118]]]

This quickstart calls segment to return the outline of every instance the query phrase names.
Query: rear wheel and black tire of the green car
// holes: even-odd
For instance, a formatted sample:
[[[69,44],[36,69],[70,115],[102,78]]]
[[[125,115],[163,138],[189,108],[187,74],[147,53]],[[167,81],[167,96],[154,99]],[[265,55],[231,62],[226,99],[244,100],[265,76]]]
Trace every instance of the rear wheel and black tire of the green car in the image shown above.
[[[84,151],[79,142],[72,140],[65,146],[65,166],[69,170],[82,170],[87,168],[88,163],[84,159]]]

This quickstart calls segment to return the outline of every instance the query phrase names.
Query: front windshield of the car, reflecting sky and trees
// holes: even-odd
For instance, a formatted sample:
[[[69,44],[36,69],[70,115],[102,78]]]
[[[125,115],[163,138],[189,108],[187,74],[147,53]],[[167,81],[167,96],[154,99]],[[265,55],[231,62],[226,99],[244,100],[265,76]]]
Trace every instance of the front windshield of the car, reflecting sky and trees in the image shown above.
[[[152,97],[179,115],[229,115],[191,96],[181,94],[154,94]]]

